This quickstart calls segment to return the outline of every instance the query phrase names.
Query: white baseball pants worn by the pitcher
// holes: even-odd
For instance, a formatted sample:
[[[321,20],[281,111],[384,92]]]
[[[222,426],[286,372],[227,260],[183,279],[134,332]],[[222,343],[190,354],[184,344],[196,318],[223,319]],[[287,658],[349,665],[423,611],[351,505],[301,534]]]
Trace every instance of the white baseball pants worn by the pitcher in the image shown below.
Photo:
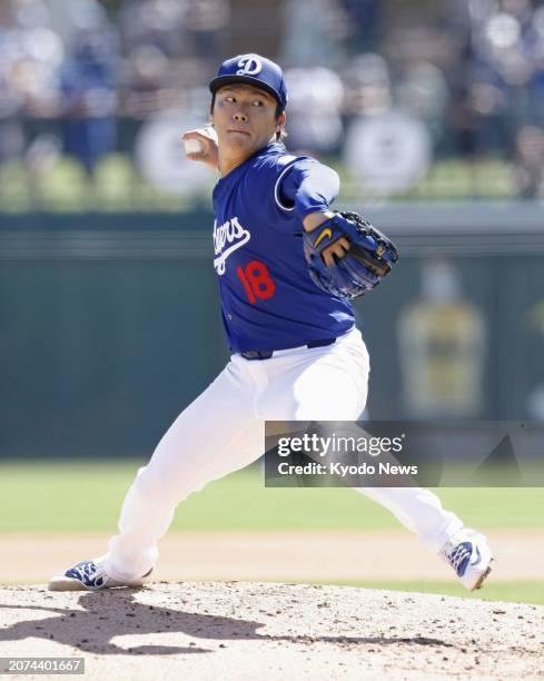
[[[265,421],[357,420],[368,373],[368,353],[356,328],[326,347],[279,351],[263,361],[233,355],[138,471],[122,504],[119,534],[109,542],[106,572],[118,580],[146,574],[179,502],[261,456]],[[463,526],[421,487],[357,492],[387,507],[435,553]]]

